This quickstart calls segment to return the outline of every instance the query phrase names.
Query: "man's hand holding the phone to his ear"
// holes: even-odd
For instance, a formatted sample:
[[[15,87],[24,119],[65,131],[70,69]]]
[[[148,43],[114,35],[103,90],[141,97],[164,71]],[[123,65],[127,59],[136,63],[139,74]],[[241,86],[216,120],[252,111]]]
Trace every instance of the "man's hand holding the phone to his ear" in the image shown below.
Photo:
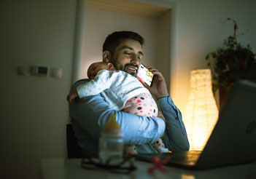
[[[154,80],[152,83],[152,87],[147,86],[144,82],[144,87],[146,87],[148,90],[150,90],[152,95],[155,95],[156,98],[160,99],[163,97],[167,97],[168,91],[166,88],[166,81],[163,78],[162,73],[160,73],[157,69],[152,68],[151,66],[147,66],[147,69],[151,71],[154,74]]]

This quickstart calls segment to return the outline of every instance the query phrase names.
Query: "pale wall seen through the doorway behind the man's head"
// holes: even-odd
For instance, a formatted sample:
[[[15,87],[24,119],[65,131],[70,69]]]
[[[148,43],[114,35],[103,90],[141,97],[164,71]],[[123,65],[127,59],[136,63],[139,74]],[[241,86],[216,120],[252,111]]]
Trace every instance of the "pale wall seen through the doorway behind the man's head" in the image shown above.
[[[156,65],[157,20],[155,18],[86,7],[82,78],[87,78],[87,69],[90,63],[102,60],[102,45],[106,36],[114,31],[135,31],[143,36],[145,39],[143,46],[145,55],[142,63]]]

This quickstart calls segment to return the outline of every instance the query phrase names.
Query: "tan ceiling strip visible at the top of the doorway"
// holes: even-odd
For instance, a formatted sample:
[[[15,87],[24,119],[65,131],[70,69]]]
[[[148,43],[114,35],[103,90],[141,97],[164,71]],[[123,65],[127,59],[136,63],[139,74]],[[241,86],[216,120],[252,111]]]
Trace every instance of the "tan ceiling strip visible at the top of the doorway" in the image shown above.
[[[133,0],[86,0],[85,4],[88,7],[123,12],[143,17],[159,17],[169,9],[168,7],[159,7]]]

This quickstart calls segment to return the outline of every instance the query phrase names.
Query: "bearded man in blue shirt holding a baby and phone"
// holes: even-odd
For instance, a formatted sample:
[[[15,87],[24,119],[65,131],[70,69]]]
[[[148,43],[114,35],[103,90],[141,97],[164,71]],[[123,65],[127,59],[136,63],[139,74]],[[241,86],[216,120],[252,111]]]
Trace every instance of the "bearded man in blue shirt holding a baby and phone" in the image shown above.
[[[138,33],[130,31],[112,33],[104,42],[103,61],[111,62],[117,70],[136,76],[143,56],[143,44],[144,39]],[[69,114],[79,146],[84,154],[98,156],[98,138],[101,128],[109,121],[110,114],[116,115],[116,121],[123,130],[125,145],[135,144],[139,154],[157,153],[151,143],[161,136],[163,136],[163,143],[170,151],[189,150],[182,114],[168,95],[163,75],[155,68],[149,67],[149,70],[155,75],[155,79],[152,87],[147,87],[147,89],[158,99],[158,105],[165,121],[158,117],[135,116],[115,111],[106,103],[104,98],[107,96],[103,98],[103,94],[81,98],[69,105]],[[79,84],[87,81],[88,79],[77,81],[71,87],[71,92]],[[165,135],[163,135],[164,132]]]

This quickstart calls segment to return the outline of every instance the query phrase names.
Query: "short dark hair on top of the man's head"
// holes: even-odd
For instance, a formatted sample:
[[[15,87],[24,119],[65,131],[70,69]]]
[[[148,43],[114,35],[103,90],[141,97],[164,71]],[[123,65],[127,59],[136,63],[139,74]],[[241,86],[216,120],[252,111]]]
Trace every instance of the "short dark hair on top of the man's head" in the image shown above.
[[[105,50],[109,51],[111,54],[115,52],[115,48],[120,45],[122,41],[133,39],[135,41],[139,41],[141,46],[144,44],[144,39],[138,33],[132,31],[117,31],[111,33],[106,37],[106,40],[103,44],[103,52]]]

